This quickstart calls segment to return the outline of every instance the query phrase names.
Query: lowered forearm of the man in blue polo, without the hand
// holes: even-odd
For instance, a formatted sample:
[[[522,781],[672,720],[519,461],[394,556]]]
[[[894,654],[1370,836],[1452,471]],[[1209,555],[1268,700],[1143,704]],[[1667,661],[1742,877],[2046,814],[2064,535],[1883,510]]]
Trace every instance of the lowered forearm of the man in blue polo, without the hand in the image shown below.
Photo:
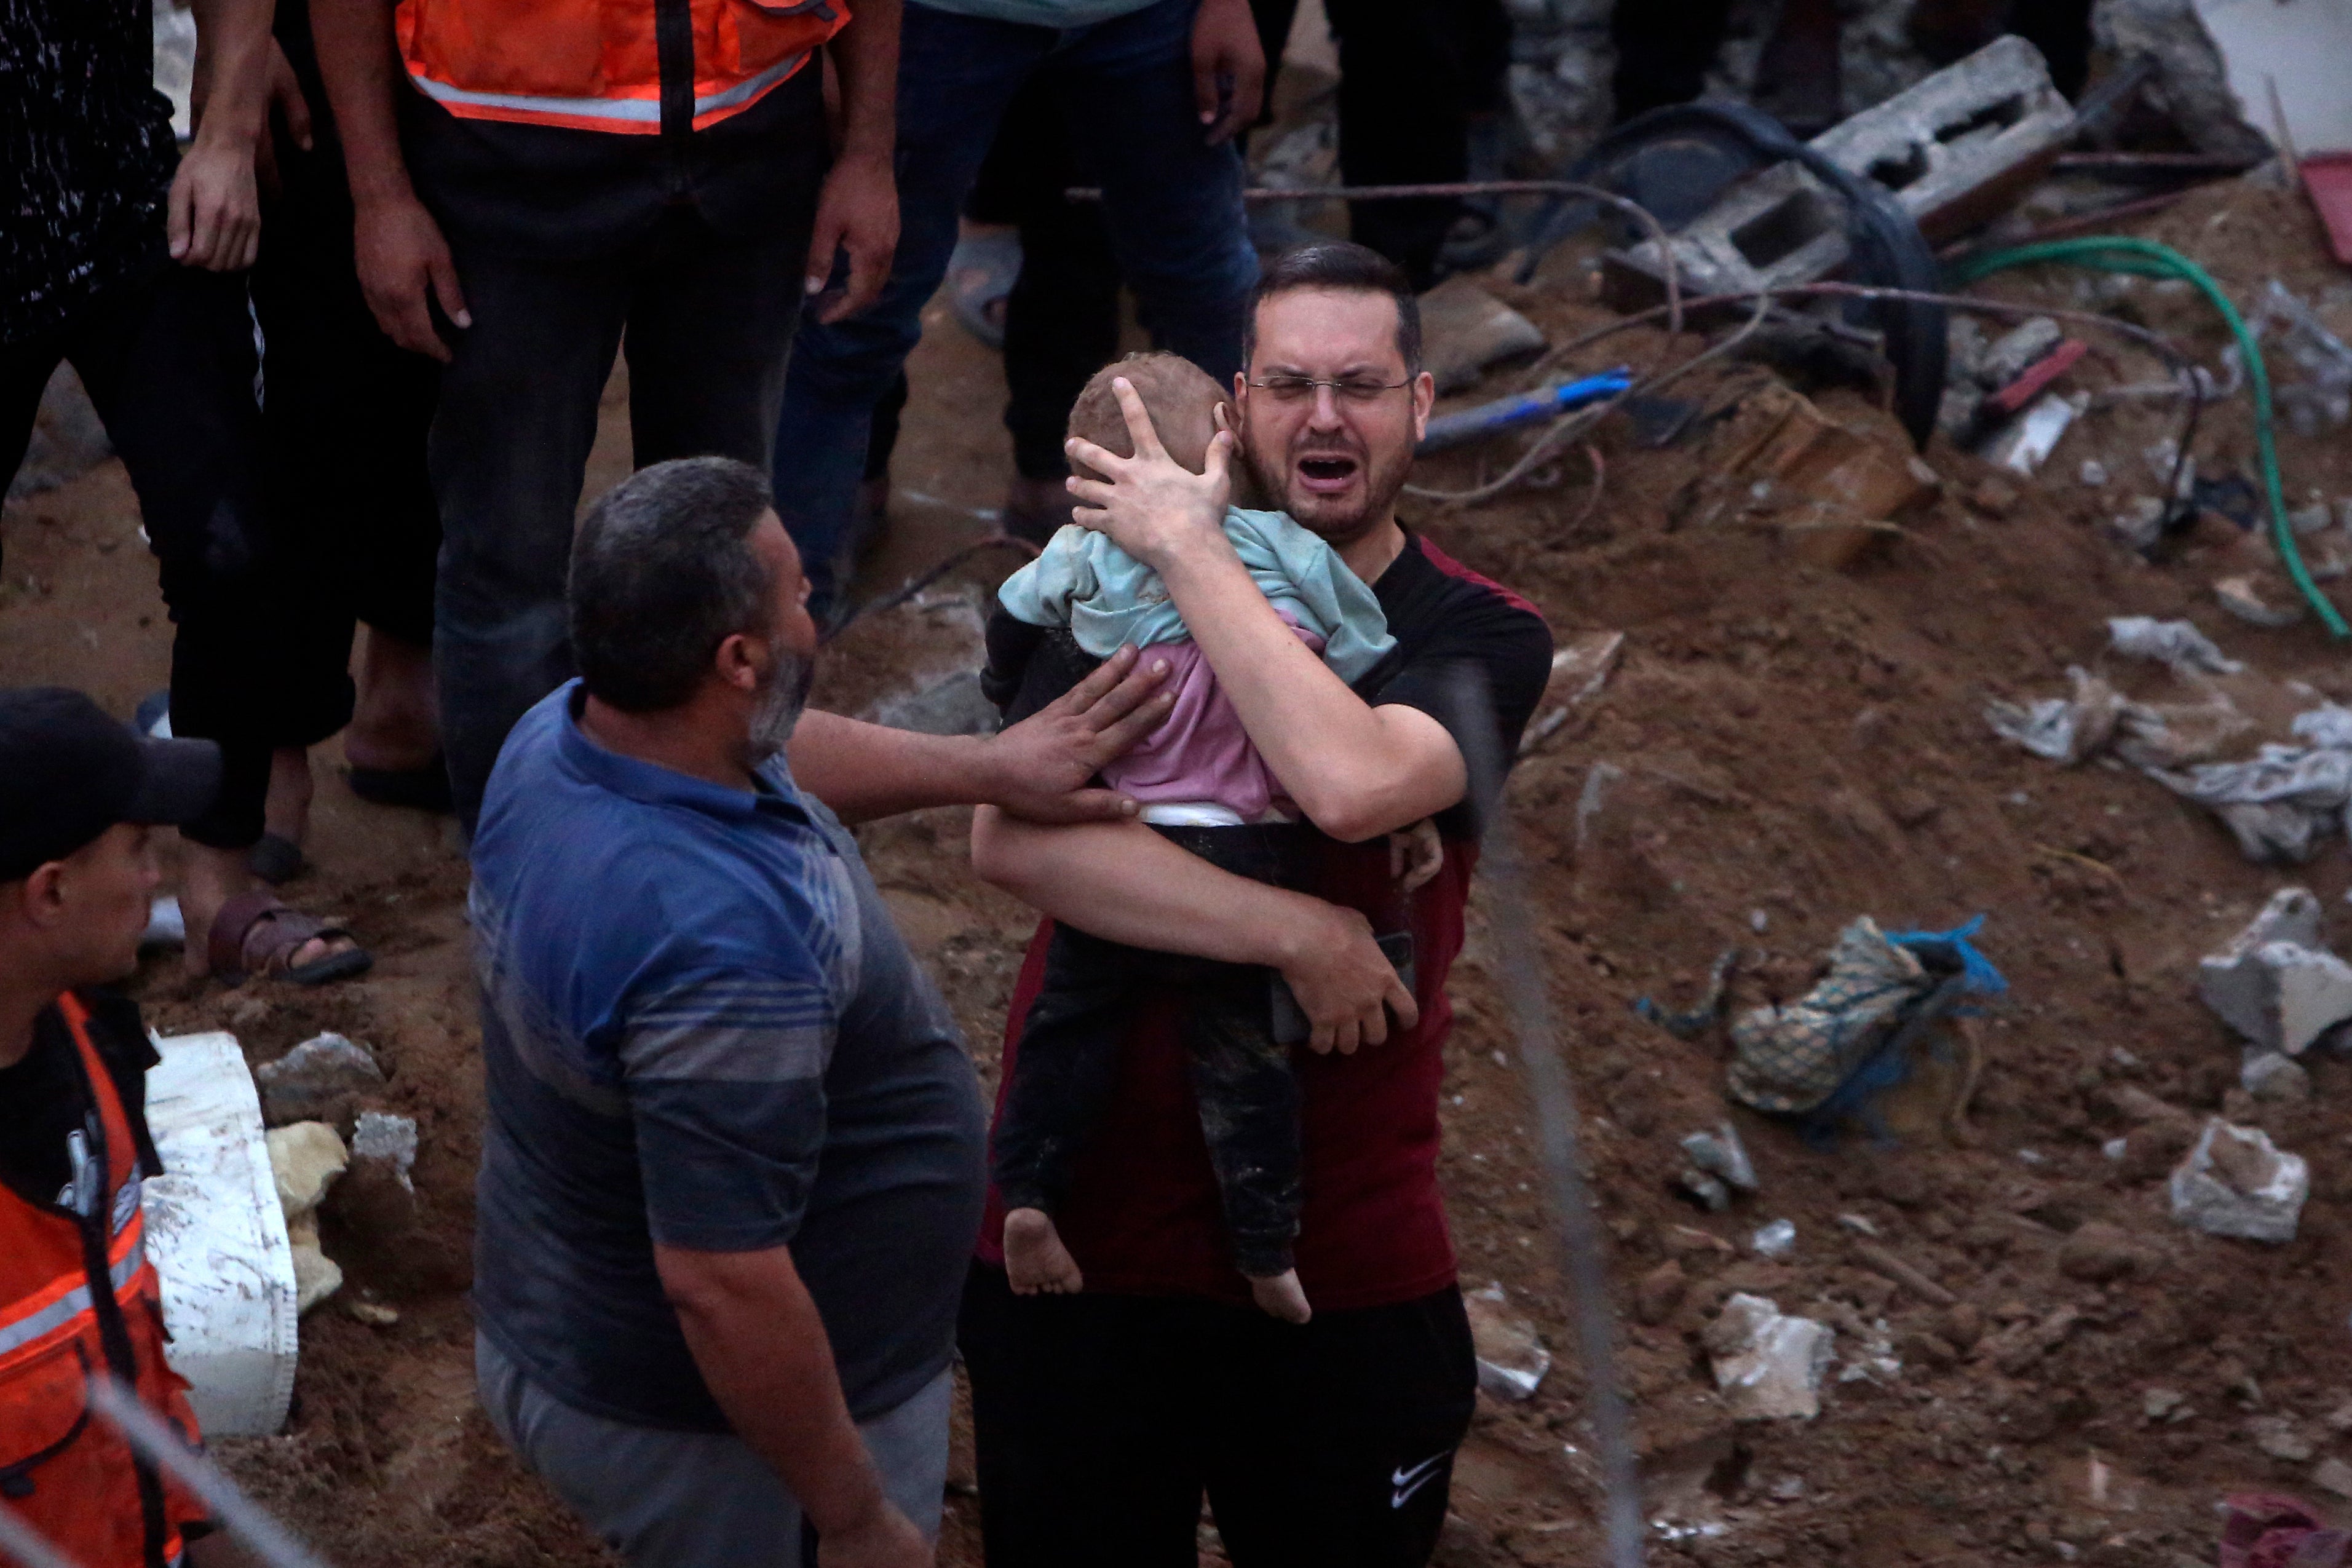
[[[764,1253],[656,1246],[654,1265],[710,1396],[818,1533],[849,1530],[882,1509],[882,1481],[849,1418],[826,1324],[793,1255],[781,1246]]]

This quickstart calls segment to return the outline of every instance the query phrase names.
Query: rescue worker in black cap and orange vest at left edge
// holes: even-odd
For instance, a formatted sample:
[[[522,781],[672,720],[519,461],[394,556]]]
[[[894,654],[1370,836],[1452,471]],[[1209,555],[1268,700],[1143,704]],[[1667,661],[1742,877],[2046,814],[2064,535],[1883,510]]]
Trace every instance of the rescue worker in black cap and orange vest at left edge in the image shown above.
[[[219,788],[212,741],[139,738],[78,691],[0,691],[0,1507],[78,1568],[169,1568],[205,1533],[87,1385],[118,1378],[198,1436],[139,1218],[155,1048],[103,987],[139,966],[151,827]],[[214,1540],[188,1561],[230,1559]]]

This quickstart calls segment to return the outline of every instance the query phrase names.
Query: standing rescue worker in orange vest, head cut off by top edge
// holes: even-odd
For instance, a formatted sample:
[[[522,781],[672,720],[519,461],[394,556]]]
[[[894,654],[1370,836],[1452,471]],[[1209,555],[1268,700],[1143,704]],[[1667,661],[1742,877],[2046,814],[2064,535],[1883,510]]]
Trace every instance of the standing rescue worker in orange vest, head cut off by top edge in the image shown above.
[[[572,677],[564,564],[616,350],[633,468],[767,470],[802,299],[837,320],[882,289],[898,7],[310,0],[360,287],[447,362],[433,661],[468,835],[506,731]]]

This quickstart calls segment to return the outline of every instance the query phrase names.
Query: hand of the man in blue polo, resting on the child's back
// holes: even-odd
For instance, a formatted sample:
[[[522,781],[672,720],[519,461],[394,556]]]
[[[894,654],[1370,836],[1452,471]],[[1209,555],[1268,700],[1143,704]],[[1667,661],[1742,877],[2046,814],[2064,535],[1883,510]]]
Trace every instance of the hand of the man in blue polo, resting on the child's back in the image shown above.
[[[1169,717],[1176,696],[1160,691],[1167,672],[1167,658],[1120,649],[1094,675],[983,741],[988,804],[1030,823],[1131,818],[1134,799],[1089,780]]]

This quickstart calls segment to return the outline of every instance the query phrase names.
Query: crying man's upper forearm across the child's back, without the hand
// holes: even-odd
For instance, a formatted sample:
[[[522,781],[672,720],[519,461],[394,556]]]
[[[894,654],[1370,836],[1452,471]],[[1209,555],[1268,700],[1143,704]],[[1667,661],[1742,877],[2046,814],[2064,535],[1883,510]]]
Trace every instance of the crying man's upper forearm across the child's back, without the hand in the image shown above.
[[[1444,726],[1414,708],[1369,708],[1230,548],[1181,555],[1162,581],[1251,745],[1317,827],[1369,839],[1463,797],[1468,771]]]

